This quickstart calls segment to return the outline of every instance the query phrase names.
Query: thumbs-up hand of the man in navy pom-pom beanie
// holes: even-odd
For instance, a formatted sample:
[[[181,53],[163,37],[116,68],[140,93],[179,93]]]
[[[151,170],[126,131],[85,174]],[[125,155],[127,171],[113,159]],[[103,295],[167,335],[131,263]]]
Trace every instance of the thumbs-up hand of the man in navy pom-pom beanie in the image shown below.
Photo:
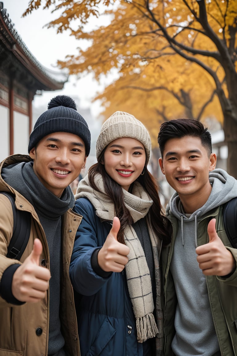
[[[12,294],[20,302],[37,303],[44,298],[49,287],[50,272],[47,268],[39,266],[42,251],[41,241],[35,239],[31,254],[13,275]]]

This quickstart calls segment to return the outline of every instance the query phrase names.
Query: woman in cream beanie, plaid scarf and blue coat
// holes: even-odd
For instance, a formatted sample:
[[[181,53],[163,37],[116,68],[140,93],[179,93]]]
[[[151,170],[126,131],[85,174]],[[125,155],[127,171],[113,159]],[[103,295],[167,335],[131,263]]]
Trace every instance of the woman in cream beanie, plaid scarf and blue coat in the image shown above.
[[[97,163],[77,188],[83,216],[70,263],[81,356],[163,354],[159,255],[169,236],[151,140],[133,115],[116,111],[96,143]]]

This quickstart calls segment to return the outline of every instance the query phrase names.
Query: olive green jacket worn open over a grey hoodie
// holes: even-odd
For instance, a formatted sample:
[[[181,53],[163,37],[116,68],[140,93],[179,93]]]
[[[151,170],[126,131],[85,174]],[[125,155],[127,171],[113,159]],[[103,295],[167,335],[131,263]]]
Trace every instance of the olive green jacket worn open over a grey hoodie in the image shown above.
[[[176,236],[177,220],[171,215],[170,211],[167,217],[173,226],[173,236]],[[237,262],[237,249],[231,247],[223,227],[222,206],[218,206],[203,216],[198,225],[198,245],[209,242],[207,227],[211,218],[216,218],[217,234]],[[173,355],[171,342],[175,334],[174,317],[177,297],[172,275],[169,272],[173,248],[174,238],[172,238],[171,244],[163,247],[162,250],[165,356]],[[237,268],[228,278],[206,276],[206,285],[221,355],[237,356]]]

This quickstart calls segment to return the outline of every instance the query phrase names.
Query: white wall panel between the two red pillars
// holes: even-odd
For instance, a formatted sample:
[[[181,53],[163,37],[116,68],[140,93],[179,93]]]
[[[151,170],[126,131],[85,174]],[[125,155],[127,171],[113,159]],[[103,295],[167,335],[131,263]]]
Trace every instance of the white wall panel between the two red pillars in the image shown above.
[[[29,117],[14,111],[14,153],[28,155]]]

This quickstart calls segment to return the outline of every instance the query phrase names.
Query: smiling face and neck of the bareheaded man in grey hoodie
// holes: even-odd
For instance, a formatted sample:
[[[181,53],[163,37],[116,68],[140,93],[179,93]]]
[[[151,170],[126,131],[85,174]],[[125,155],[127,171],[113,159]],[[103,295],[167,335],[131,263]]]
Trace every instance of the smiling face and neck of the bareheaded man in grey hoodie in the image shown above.
[[[178,193],[186,213],[205,204],[211,192],[209,172],[215,169],[216,155],[208,152],[199,137],[168,140],[159,164],[167,182]]]

